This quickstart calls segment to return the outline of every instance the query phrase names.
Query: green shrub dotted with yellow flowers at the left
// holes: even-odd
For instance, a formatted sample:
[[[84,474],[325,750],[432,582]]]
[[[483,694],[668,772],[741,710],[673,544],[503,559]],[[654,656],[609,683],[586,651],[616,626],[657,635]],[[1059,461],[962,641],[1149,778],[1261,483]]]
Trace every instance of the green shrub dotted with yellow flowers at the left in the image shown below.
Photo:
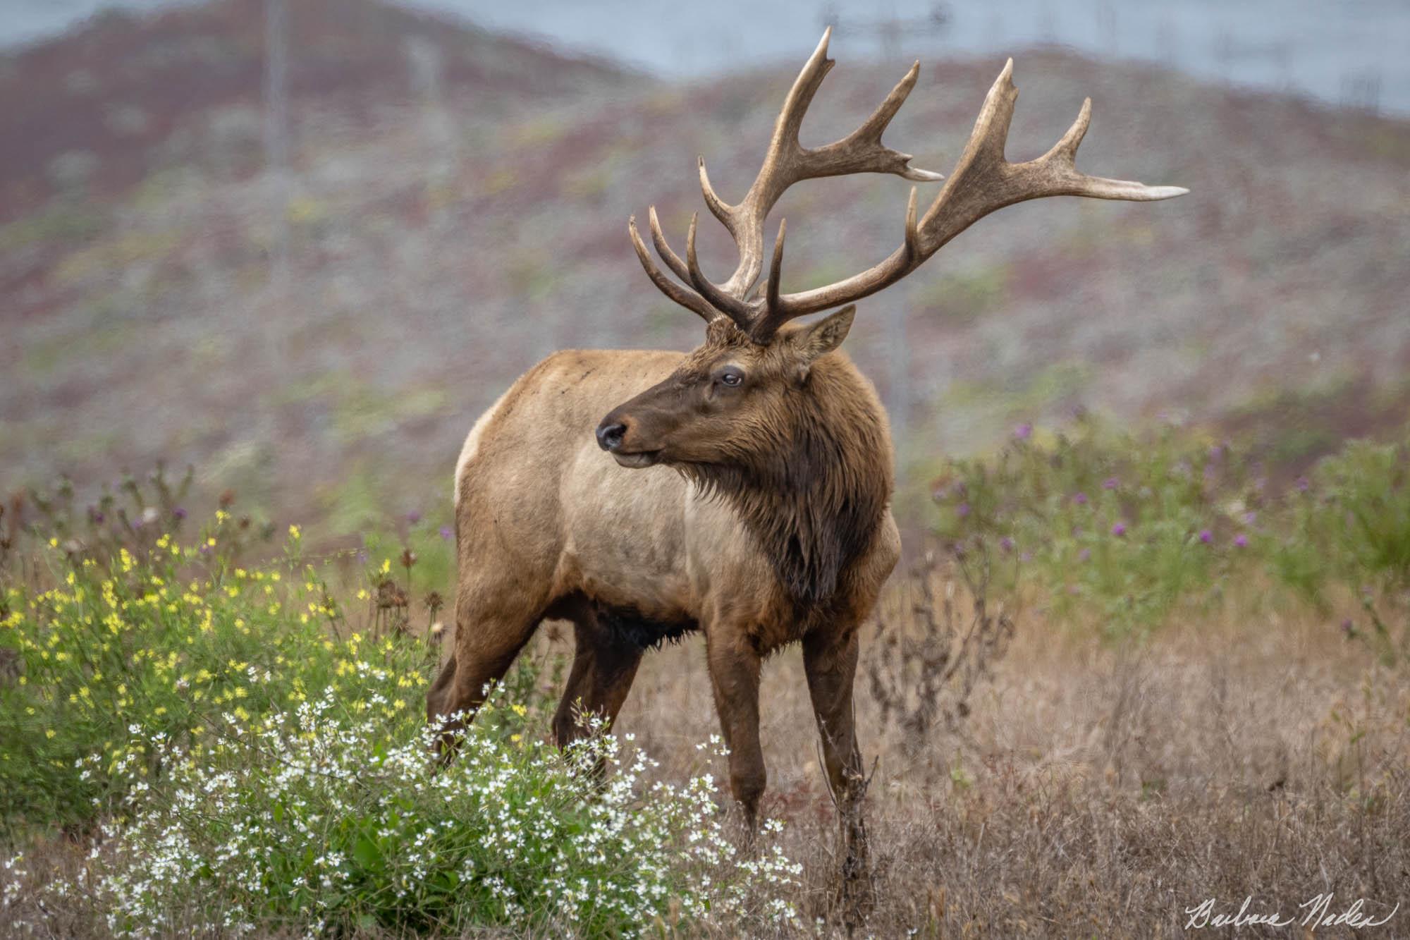
[[[54,586],[11,584],[0,614],[0,649],[17,673],[0,682],[6,828],[85,823],[110,810],[128,782],[114,775],[120,762],[135,754],[147,772],[159,766],[133,728],[199,749],[227,717],[296,706],[361,658],[367,639],[347,632],[317,569],[300,562],[299,538],[282,562],[247,569],[223,548],[235,529],[220,511],[186,545],[159,535],[149,550],[121,545],[99,560],[51,536],[31,555]],[[424,648],[376,653],[415,700]]]

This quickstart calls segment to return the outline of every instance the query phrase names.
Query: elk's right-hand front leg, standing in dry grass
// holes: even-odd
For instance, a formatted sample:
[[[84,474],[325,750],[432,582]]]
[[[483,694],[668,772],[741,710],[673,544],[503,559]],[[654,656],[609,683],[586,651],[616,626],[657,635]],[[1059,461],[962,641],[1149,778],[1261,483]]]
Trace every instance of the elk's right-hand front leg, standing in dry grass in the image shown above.
[[[818,720],[818,734],[822,735],[828,782],[838,803],[843,843],[843,895],[856,895],[857,886],[869,879],[867,831],[862,813],[866,772],[852,716],[852,683],[857,672],[859,645],[856,629],[839,634],[812,632],[802,641],[808,693]]]

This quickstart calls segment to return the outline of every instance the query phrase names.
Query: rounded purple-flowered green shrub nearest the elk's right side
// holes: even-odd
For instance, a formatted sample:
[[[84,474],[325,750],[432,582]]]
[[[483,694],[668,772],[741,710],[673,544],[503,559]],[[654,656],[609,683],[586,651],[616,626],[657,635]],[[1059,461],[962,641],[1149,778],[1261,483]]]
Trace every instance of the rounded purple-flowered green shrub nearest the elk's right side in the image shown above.
[[[1022,426],[991,460],[952,460],[935,497],[955,550],[1007,556],[1010,587],[1021,577],[1056,615],[1114,635],[1217,596],[1248,556],[1261,501],[1224,445],[1091,421],[1048,443]]]

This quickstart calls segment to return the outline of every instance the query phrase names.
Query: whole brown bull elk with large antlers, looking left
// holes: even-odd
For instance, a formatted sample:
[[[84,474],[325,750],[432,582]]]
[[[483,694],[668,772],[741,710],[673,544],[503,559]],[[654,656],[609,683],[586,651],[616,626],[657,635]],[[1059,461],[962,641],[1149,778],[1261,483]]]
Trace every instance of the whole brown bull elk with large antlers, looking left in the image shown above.
[[[729,279],[716,284],[701,271],[694,217],[681,258],[650,210],[651,241],[678,279],[651,260],[634,217],[627,226],[651,282],[705,320],[705,343],[684,354],[556,353],[475,422],[455,467],[455,645],[427,710],[453,731],[539,622],[564,618],[577,642],[554,718],[565,744],[582,734],[575,710],[612,723],[647,648],[704,632],[729,783],[752,830],[766,781],[760,663],[801,641],[846,852],[862,861],[864,783],[852,713],[857,632],[901,542],[890,511],[887,416],[871,382],[838,351],[853,302],[900,281],[1003,206],[1043,196],[1155,200],[1186,191],[1079,172],[1073,158],[1090,99],[1046,154],[1005,161],[1018,96],[1010,59],[924,216],[912,186],[901,246],[890,257],[836,284],[784,294],[780,222],[768,278],[756,289],[764,220],[788,186],[863,172],[942,179],[881,143],[919,64],[856,131],[825,147],[799,144],[804,113],[833,65],[829,32],[788,92],[743,199],[726,203],[699,164],[705,205],[739,250]],[[790,325],[833,308],[842,309]]]

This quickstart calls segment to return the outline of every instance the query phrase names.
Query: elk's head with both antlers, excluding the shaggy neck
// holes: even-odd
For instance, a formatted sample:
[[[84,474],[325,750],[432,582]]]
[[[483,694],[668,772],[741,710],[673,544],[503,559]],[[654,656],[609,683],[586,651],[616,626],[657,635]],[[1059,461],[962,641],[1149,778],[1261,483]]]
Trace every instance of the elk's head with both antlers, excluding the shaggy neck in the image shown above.
[[[911,188],[902,241],[895,251],[843,281],[784,294],[780,278],[787,223],[780,220],[768,278],[759,291],[764,220],[788,186],[804,179],[863,172],[895,174],[915,182],[943,179],[940,174],[911,167],[909,154],[881,143],[883,131],[915,86],[919,62],[852,134],[818,148],[799,144],[804,113],[833,66],[828,58],[830,34],[829,27],[788,92],[764,165],[739,203],[729,205],[715,193],[705,161],[699,159],[705,205],[729,230],[739,250],[739,264],[728,281],[715,284],[701,271],[695,257],[698,216],[691,217],[685,258],[681,260],[661,233],[656,207],[649,212],[656,251],[680,282],[651,260],[636,230],[636,217],[627,223],[647,277],[671,301],[705,319],[706,340],[666,381],[613,408],[598,425],[598,443],[622,466],[747,466],[756,452],[767,446],[761,438],[777,438],[778,429],[788,428],[788,422],[780,419],[797,409],[799,395],[822,394],[811,388],[812,364],[846,337],[856,309],[853,302],[895,284],[997,209],[1043,196],[1151,202],[1189,192],[1180,186],[1146,186],[1079,172],[1073,161],[1091,119],[1091,99],[1083,102],[1077,120],[1046,154],[1022,164],[1004,159],[1018,99],[1011,79],[1014,61],[1010,59],[984,99],[959,164],[924,216],[916,215],[916,188]],[[842,305],[847,306],[811,326],[781,329],[795,318]]]

